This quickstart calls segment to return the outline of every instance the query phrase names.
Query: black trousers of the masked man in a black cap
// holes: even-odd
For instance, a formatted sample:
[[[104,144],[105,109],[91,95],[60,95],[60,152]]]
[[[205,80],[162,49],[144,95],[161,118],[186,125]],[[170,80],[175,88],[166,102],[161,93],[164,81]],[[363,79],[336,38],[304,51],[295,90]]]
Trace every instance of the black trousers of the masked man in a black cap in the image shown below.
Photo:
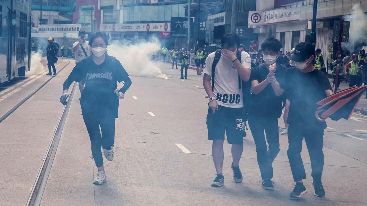
[[[306,179],[301,151],[302,140],[305,137],[306,146],[310,155],[312,173],[314,180],[321,180],[324,167],[324,153],[322,151],[324,129],[289,125],[288,126],[288,159],[291,166],[293,180]]]

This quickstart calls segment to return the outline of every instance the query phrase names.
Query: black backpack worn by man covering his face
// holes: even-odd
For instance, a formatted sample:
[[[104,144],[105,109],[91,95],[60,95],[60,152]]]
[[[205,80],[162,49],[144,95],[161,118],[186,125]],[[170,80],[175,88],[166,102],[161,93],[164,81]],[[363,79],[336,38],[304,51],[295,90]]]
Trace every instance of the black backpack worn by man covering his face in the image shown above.
[[[242,63],[241,61],[241,50],[237,50],[237,58],[238,60]],[[214,78],[215,78],[215,67],[217,66],[218,62],[219,62],[219,58],[222,55],[222,50],[221,49],[217,49],[215,51],[215,56],[214,56],[214,60],[213,60],[213,64],[211,66],[211,89],[212,91],[214,91]],[[238,75],[238,88],[241,89],[242,86],[242,98],[243,98],[243,109],[244,109],[244,122],[246,123],[247,121],[247,113],[248,113],[248,103],[250,100],[250,81],[243,81],[240,77],[240,75]],[[247,126],[247,124],[246,124]],[[245,135],[246,136],[246,132]]]

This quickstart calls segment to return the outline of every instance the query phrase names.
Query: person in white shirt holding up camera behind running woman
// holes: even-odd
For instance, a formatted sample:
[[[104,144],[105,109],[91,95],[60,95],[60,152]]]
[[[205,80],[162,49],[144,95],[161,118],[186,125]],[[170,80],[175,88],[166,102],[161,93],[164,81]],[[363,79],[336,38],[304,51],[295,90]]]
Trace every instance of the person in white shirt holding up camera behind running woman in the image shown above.
[[[80,60],[90,56],[92,54],[92,49],[90,48],[89,41],[86,40],[86,31],[79,31],[79,40],[73,44],[73,52],[75,54],[75,64],[80,62]],[[79,91],[83,91],[84,82],[83,80],[79,82]],[[79,98],[80,100],[81,98]]]

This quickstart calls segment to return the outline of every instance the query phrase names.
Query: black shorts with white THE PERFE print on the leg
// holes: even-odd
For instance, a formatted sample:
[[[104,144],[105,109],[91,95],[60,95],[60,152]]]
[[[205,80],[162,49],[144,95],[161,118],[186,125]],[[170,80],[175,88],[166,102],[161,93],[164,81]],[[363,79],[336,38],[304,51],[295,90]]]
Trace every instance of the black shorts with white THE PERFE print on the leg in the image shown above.
[[[245,125],[243,108],[218,105],[218,111],[214,114],[212,109],[208,108],[208,140],[224,140],[224,133],[226,133],[229,144],[242,144],[246,134]]]

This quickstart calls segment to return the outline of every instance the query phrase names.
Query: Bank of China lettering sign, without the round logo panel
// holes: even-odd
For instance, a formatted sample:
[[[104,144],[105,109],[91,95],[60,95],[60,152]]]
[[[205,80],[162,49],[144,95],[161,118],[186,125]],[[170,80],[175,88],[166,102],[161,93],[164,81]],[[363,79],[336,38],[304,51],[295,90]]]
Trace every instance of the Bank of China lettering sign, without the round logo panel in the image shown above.
[[[276,9],[270,11],[264,11],[263,13],[264,24],[290,22],[297,21],[301,17],[301,12],[291,9]]]

